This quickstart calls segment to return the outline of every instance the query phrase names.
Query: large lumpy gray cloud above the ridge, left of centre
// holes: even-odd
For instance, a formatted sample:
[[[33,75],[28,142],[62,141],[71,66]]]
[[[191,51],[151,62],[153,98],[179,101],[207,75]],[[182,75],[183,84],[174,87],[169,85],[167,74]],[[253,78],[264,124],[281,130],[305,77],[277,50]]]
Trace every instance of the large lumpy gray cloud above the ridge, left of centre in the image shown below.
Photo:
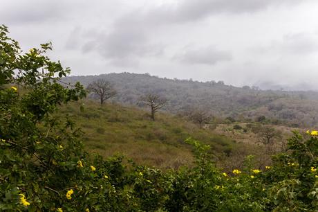
[[[162,55],[164,49],[161,44],[151,42],[149,28],[143,26],[138,15],[124,15],[107,28],[92,36],[82,50],[97,51],[105,60],[115,66],[129,66],[138,64],[140,57]]]

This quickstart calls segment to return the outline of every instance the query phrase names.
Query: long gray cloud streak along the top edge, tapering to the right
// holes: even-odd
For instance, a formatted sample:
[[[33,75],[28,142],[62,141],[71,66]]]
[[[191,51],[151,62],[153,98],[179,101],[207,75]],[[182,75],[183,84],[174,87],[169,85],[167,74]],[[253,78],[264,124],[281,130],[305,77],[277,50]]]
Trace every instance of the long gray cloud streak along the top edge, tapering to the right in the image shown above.
[[[143,16],[144,22],[148,22],[149,25],[180,23],[198,21],[221,13],[251,13],[270,7],[293,6],[303,2],[299,0],[180,0],[178,3],[163,5],[147,12],[138,10],[135,15]]]

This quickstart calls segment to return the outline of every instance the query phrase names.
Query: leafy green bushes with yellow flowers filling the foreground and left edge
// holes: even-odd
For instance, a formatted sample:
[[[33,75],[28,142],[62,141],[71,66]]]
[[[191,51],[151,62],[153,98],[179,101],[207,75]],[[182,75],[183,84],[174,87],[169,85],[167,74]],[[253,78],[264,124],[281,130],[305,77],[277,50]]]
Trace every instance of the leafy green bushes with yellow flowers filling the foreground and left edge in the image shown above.
[[[294,133],[271,167],[222,173],[193,139],[194,168],[162,173],[90,157],[72,120],[52,116],[85,95],[57,81],[69,72],[44,53],[22,54],[0,28],[0,209],[2,211],[315,211],[318,138]],[[17,71],[15,73],[15,71]],[[27,92],[20,94],[19,86]],[[55,117],[55,118],[54,118]]]

